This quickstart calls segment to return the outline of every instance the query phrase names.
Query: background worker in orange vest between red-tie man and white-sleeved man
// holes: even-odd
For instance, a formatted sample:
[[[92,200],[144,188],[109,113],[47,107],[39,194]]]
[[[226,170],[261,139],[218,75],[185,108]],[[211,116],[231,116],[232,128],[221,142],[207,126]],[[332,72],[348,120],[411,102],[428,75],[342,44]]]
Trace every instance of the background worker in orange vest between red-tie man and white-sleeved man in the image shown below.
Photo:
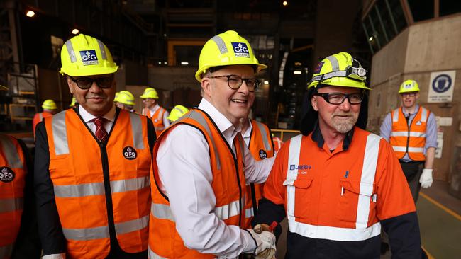
[[[170,126],[170,120],[168,120],[170,113],[158,105],[158,93],[154,88],[145,88],[140,98],[143,99],[144,103],[143,115],[150,117],[150,120],[154,122],[155,132],[158,137],[164,129]]]

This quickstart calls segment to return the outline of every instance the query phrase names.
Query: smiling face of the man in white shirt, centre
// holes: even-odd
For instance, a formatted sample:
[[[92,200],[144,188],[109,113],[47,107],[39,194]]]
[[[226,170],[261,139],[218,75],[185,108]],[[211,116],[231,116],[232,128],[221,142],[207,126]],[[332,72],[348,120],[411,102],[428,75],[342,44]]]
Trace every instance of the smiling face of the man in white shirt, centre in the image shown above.
[[[208,76],[236,75],[243,79],[254,79],[255,70],[250,65],[233,65],[223,67]],[[204,98],[209,101],[220,113],[232,122],[234,126],[240,124],[239,120],[248,115],[255,100],[255,93],[248,91],[245,81],[237,90],[228,86],[226,77],[201,79]]]

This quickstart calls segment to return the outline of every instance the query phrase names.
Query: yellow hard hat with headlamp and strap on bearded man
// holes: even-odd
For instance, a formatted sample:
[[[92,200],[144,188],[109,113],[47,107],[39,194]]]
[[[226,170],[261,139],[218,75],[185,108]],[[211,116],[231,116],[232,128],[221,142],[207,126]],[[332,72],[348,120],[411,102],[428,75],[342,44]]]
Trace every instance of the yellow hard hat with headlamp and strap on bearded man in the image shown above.
[[[370,90],[365,86],[367,70],[347,52],[333,54],[318,63],[308,89],[318,85],[345,86]]]

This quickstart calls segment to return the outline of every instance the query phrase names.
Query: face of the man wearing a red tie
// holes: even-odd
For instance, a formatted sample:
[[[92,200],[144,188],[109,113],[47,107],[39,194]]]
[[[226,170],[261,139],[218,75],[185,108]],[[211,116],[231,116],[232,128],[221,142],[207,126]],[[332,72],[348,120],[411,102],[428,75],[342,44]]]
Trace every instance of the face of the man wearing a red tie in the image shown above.
[[[84,76],[86,78],[97,79],[99,77],[106,77],[108,75],[97,75],[97,76]],[[73,77],[75,80],[78,80],[79,76]],[[112,85],[109,88],[101,88],[94,81],[91,84],[91,87],[88,89],[81,89],[77,86],[77,83],[72,81],[69,76],[67,76],[67,84],[69,85],[70,93],[75,96],[77,103],[82,105],[82,107],[87,110],[88,113],[94,116],[103,116],[106,113],[109,113],[113,106],[113,99],[115,98],[116,93],[116,83],[113,80]]]

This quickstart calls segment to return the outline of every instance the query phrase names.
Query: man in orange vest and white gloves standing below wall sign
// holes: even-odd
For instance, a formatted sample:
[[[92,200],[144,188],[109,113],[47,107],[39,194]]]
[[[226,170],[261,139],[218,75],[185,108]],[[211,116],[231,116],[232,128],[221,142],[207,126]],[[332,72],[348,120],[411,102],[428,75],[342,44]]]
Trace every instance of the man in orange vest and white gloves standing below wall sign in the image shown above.
[[[432,185],[437,122],[431,111],[416,104],[419,97],[416,81],[404,81],[399,93],[402,105],[384,117],[380,134],[391,143],[416,203],[420,188]]]

